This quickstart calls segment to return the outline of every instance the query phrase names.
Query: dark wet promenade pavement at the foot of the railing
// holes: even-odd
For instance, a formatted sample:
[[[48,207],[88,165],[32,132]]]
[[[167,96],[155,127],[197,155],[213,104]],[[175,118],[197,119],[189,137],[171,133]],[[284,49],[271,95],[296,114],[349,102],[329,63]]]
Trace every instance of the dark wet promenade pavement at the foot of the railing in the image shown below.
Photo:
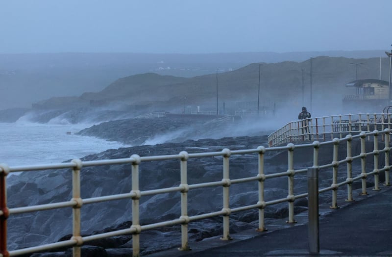
[[[320,205],[319,254],[309,254],[307,212],[297,223],[266,223],[268,231],[254,230],[192,242],[191,251],[171,249],[149,257],[257,257],[257,256],[390,256],[392,257],[392,186],[368,188],[368,195],[354,191],[354,202],[338,201],[338,209]],[[339,189],[339,190],[343,190]],[[282,223],[284,225],[282,225]]]

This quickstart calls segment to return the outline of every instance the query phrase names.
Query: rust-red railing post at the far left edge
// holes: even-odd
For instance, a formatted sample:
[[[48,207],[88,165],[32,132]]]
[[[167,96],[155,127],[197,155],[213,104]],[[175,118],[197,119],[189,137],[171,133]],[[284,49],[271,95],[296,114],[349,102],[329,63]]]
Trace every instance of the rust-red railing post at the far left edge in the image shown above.
[[[9,173],[9,167],[0,164],[0,254],[3,257],[9,257],[7,251],[7,218],[9,210],[7,207],[7,183],[6,177]]]

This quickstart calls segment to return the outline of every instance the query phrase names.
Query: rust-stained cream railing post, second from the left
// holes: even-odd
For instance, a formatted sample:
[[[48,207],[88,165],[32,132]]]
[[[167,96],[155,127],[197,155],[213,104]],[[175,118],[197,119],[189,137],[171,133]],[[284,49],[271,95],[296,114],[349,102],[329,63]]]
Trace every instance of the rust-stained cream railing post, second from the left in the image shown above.
[[[81,257],[80,246],[83,245],[83,239],[80,235],[80,208],[82,207],[82,199],[80,198],[80,169],[82,168],[82,161],[80,159],[73,159],[76,166],[73,167],[72,172],[72,200],[76,202],[73,206],[73,232],[72,239],[76,240],[76,245],[73,247],[73,257]]]

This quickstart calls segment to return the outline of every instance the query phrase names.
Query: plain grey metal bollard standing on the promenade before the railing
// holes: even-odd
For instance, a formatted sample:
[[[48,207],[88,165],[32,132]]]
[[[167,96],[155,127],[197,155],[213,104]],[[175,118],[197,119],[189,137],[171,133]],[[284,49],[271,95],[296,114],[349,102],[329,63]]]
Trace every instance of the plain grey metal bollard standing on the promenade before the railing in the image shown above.
[[[308,238],[309,253],[320,252],[319,243],[319,168],[308,168]]]

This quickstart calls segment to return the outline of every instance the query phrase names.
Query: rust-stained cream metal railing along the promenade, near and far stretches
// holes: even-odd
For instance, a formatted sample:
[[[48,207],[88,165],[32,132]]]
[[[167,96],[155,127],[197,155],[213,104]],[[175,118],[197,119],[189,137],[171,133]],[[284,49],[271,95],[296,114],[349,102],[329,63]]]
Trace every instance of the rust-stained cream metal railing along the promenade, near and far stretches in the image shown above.
[[[343,116],[338,116],[343,117]],[[359,128],[363,126],[377,126],[378,123],[370,122],[369,116],[365,119],[366,122],[356,122],[355,124],[360,125]],[[378,117],[378,116],[375,116]],[[333,118],[333,117],[330,117]],[[321,118],[326,119],[324,118]],[[312,121],[317,121],[319,119],[315,118]],[[342,119],[341,119],[342,120]],[[348,119],[350,121],[350,119]],[[376,119],[375,119],[376,120]],[[390,117],[388,117],[390,120]],[[332,122],[329,126],[331,132],[333,131]],[[345,124],[345,123],[344,123]],[[343,122],[336,124],[338,128],[343,125]],[[352,131],[354,124],[349,122],[348,131]],[[309,123],[311,131],[318,127],[313,126],[312,123]],[[324,126],[327,126],[324,123]],[[286,134],[289,137],[293,137],[293,131],[297,131],[296,129],[287,129]],[[280,131],[280,130],[279,130]],[[283,131],[283,130],[282,130]],[[343,130],[337,131],[338,133]],[[353,201],[352,197],[352,183],[355,180],[362,181],[362,194],[367,194],[367,180],[372,175],[374,177],[374,190],[379,190],[379,174],[381,172],[385,172],[385,183],[384,185],[390,185],[389,172],[391,165],[389,163],[389,155],[390,155],[390,132],[391,130],[385,128],[382,131],[374,130],[371,132],[360,132],[356,135],[347,134],[344,138],[333,138],[330,141],[314,141],[308,144],[300,144],[294,145],[293,143],[289,143],[286,146],[280,147],[270,147],[265,148],[263,146],[259,146],[255,149],[246,149],[246,150],[235,150],[231,151],[229,149],[223,149],[218,152],[207,152],[207,153],[187,153],[185,151],[180,152],[179,154],[172,155],[158,155],[158,156],[139,156],[137,154],[131,155],[129,158],[121,158],[121,159],[110,159],[110,160],[95,160],[95,161],[81,161],[79,159],[72,160],[68,163],[60,163],[60,164],[45,164],[45,165],[33,165],[33,166],[15,166],[8,167],[5,164],[0,165],[0,255],[2,256],[19,256],[24,254],[30,254],[35,252],[43,252],[49,251],[57,248],[64,247],[73,247],[73,256],[79,257],[81,255],[81,246],[85,243],[88,243],[93,240],[102,239],[111,236],[118,236],[124,234],[132,234],[132,255],[134,257],[140,256],[140,234],[143,231],[173,226],[173,225],[181,225],[181,239],[179,240],[180,248],[179,250],[189,250],[189,241],[188,241],[188,224],[191,222],[195,222],[197,220],[211,218],[215,216],[222,216],[223,219],[223,234],[222,240],[231,239],[229,231],[229,217],[232,213],[241,212],[250,209],[258,209],[258,231],[265,231],[265,209],[268,206],[287,203],[288,204],[288,223],[295,223],[294,220],[294,201],[299,198],[307,197],[308,194],[306,192],[297,192],[294,194],[294,178],[300,174],[306,174],[308,168],[294,168],[294,152],[302,151],[304,149],[310,148],[313,149],[313,154],[309,156],[311,158],[312,167],[317,167],[320,171],[322,170],[331,170],[332,175],[330,176],[332,184],[327,187],[323,187],[319,189],[319,193],[323,193],[326,191],[332,191],[332,204],[331,208],[337,208],[337,200],[338,200],[338,189],[340,189],[343,185],[347,186],[347,201]],[[283,133],[282,133],[283,134]],[[321,133],[321,135],[326,135],[325,133]],[[298,136],[298,135],[296,135]],[[314,136],[314,134],[312,134]],[[382,136],[384,138],[385,147],[383,149],[379,149],[379,137]],[[276,140],[278,136],[276,136],[273,140]],[[366,140],[367,138],[373,139],[373,147],[372,149],[368,149],[366,151]],[[279,139],[282,140],[282,139]],[[283,141],[283,140],[282,140]],[[353,155],[352,144],[353,142],[357,142],[361,146],[360,153],[356,153]],[[345,144],[347,149],[345,156],[339,156],[339,147]],[[319,151],[324,148],[333,148],[333,154],[328,156],[330,157],[330,161],[323,161],[324,163],[319,163]],[[281,153],[282,151],[286,151],[288,154],[287,157],[287,169],[282,171],[269,171],[265,169],[265,159],[266,154],[276,154]],[[379,167],[379,156],[384,154],[385,156],[385,165],[383,168]],[[253,156],[255,160],[257,160],[257,169],[254,170],[254,175],[245,178],[237,178],[232,179],[229,173],[230,168],[230,157],[234,155],[239,156]],[[370,171],[367,170],[366,159],[373,156],[373,169]],[[222,180],[218,181],[209,181],[204,183],[196,183],[189,184],[188,183],[188,161],[192,158],[206,158],[206,157],[216,157],[222,158]],[[325,156],[323,156],[325,158]],[[177,160],[179,162],[179,176],[180,176],[180,184],[173,187],[167,188],[156,188],[153,190],[140,190],[139,188],[139,167],[143,165],[146,161],[160,161],[160,160]],[[249,158],[247,158],[249,161]],[[346,173],[344,173],[343,177],[338,176],[338,167],[342,164],[346,164]],[[353,173],[353,164],[357,163],[360,166],[360,173]],[[132,180],[132,190],[129,193],[116,194],[116,195],[108,195],[101,197],[92,197],[87,199],[82,199],[80,195],[80,176],[83,172],[83,168],[98,166],[98,165],[119,165],[119,164],[129,164],[131,169],[131,180]],[[21,171],[37,171],[37,170],[53,170],[53,169],[70,169],[72,171],[72,199],[65,202],[58,203],[50,203],[43,205],[35,205],[35,206],[24,206],[24,207],[16,207],[16,208],[8,208],[7,206],[7,196],[6,196],[6,176],[9,173],[13,172],[21,172]],[[270,180],[275,178],[286,177],[288,180],[288,189],[287,189],[287,197],[278,198],[278,199],[270,199],[266,201],[265,197],[265,183],[269,183]],[[339,180],[338,180],[339,179]],[[257,183],[258,193],[254,195],[254,203],[250,205],[244,206],[230,206],[230,186],[233,184],[240,183],[248,183],[254,182]],[[222,206],[223,208],[220,210],[211,210],[211,212],[197,214],[193,216],[188,215],[188,192],[198,188],[205,187],[222,187]],[[282,189],[283,190],[283,189]],[[178,192],[180,196],[180,204],[181,211],[178,213],[178,218],[172,220],[161,221],[157,223],[151,224],[140,224],[140,199],[145,196],[151,196],[156,194],[163,194],[169,192]],[[12,197],[12,196],[9,196]],[[103,232],[94,235],[82,236],[81,235],[81,212],[83,211],[83,206],[90,205],[98,202],[106,202],[106,201],[114,201],[120,199],[129,199],[132,201],[132,226],[127,229],[111,231],[111,232]],[[70,226],[73,227],[73,236],[68,240],[61,242],[54,242],[50,244],[44,244],[24,249],[18,250],[7,250],[7,218],[10,215],[17,215],[20,213],[26,212],[35,212],[35,211],[45,211],[49,209],[61,209],[61,208],[72,208],[73,209],[73,221]]]

